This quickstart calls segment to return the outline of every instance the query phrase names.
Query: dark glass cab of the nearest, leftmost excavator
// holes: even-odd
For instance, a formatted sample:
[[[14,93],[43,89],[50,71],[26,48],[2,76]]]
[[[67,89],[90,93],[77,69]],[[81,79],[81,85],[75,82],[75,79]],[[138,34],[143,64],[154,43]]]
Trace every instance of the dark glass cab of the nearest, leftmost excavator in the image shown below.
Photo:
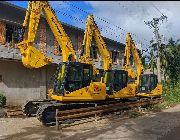
[[[54,94],[64,96],[64,92],[73,92],[87,87],[92,81],[93,67],[80,62],[60,63],[54,79]]]

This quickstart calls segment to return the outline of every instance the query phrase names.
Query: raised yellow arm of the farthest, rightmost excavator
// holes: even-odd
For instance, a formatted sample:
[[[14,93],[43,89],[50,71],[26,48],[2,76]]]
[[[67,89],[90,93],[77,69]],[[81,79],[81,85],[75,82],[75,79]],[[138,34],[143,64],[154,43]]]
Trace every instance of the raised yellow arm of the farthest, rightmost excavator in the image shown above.
[[[134,62],[137,67],[137,72],[136,74],[134,73],[134,70],[130,69],[130,53],[132,53]],[[124,69],[128,71],[128,76],[137,79],[135,80],[136,85],[139,85],[140,82],[140,76],[143,73],[143,64],[141,61],[141,58],[139,57],[138,51],[136,49],[136,46],[134,44],[134,41],[132,40],[131,34],[128,32],[126,34],[126,48],[125,48],[125,66]]]

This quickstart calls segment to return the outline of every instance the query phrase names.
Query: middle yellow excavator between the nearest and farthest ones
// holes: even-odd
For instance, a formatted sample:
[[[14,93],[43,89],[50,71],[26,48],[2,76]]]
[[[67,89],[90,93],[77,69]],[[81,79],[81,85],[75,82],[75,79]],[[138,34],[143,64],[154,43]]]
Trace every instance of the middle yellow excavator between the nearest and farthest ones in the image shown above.
[[[90,58],[90,48],[92,38],[94,37],[97,48],[104,62],[104,74],[101,75],[101,81],[106,84],[107,98],[130,98],[136,94],[136,85],[127,84],[127,71],[112,70],[112,59],[96,25],[93,15],[89,15],[86,22],[86,29],[83,40],[84,54],[80,57],[81,61],[92,63]]]

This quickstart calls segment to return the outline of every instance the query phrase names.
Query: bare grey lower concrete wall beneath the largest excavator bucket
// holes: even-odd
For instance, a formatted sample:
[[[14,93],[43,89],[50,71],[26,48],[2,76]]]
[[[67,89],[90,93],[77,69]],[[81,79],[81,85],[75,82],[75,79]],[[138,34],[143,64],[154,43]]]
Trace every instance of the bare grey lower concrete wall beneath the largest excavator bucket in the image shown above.
[[[22,105],[25,100],[45,99],[47,83],[54,70],[55,66],[28,69],[18,61],[0,60],[0,93],[7,97],[8,105]]]

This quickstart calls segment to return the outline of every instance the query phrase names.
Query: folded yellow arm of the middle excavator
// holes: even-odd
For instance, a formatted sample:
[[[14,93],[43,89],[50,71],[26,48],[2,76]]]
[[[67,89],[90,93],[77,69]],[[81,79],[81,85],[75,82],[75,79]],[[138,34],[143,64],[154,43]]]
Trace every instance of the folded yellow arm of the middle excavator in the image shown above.
[[[100,34],[98,26],[96,25],[93,15],[88,15],[86,22],[86,30],[84,34],[83,47],[85,49],[85,54],[80,57],[81,62],[91,62],[90,59],[90,47],[92,42],[92,37],[94,36],[97,43],[99,52],[103,58],[104,70],[111,69],[112,60],[110,58],[109,51],[107,50],[106,44]]]

